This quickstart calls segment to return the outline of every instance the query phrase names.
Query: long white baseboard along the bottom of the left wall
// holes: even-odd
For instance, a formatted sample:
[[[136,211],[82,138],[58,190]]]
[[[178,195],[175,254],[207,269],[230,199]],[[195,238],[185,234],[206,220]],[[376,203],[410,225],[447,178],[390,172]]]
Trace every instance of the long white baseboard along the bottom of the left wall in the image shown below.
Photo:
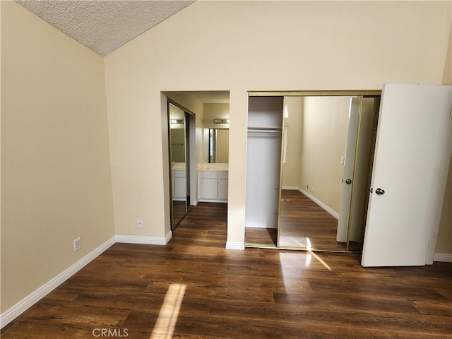
[[[83,267],[88,265],[91,261],[93,261],[97,256],[102,254],[106,249],[112,246],[115,243],[115,237],[112,237],[104,242],[102,245],[94,249],[89,254],[81,258],[79,261],[74,263],[69,268],[66,268],[63,272],[59,273],[56,277],[49,280],[47,283],[39,287],[35,292],[30,293],[27,297],[23,298],[17,304],[13,305],[2,314],[0,314],[0,328],[4,328],[4,326],[8,325],[11,321],[16,319],[20,314],[23,314],[27,309],[32,307],[34,304],[40,301],[43,297],[52,292],[59,285],[64,283],[66,280],[71,278],[72,275],[77,273]]]

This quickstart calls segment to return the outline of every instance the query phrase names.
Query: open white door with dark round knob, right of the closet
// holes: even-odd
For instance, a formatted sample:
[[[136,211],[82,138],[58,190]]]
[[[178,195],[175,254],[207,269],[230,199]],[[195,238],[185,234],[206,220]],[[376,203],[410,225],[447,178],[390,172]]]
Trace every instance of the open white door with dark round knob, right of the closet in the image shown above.
[[[425,265],[451,106],[452,86],[384,85],[362,266]]]

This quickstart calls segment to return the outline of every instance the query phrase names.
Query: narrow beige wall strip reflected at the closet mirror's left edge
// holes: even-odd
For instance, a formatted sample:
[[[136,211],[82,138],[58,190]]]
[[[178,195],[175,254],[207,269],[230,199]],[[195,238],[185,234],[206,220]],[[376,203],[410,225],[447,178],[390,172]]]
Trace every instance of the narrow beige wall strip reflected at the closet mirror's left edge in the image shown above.
[[[299,166],[303,143],[303,97],[285,98],[285,139],[286,157],[283,163],[283,187],[296,189],[299,187]]]

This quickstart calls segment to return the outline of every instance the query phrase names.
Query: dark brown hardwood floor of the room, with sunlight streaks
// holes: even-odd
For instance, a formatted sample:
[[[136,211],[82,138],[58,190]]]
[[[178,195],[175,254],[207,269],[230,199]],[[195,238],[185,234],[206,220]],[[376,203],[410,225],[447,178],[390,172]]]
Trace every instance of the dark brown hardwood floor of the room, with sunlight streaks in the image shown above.
[[[227,250],[226,218],[200,203],[167,246],[114,244],[1,338],[451,338],[452,263]]]

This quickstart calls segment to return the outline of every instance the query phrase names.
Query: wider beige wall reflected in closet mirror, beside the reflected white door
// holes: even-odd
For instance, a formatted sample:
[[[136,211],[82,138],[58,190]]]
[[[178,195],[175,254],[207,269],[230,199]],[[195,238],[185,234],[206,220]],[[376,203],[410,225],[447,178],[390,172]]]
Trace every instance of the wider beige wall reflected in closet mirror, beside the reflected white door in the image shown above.
[[[305,97],[299,187],[339,213],[350,97]],[[314,192],[307,189],[314,187]]]

